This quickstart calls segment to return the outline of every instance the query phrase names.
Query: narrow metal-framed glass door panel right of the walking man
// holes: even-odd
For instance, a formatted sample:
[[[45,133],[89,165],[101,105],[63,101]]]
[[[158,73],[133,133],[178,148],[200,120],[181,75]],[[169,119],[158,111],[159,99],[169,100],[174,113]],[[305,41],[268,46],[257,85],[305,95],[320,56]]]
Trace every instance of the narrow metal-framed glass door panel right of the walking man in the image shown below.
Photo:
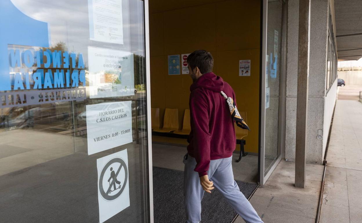
[[[286,3],[264,1],[262,47],[262,108],[260,183],[273,172],[281,159],[283,110],[285,110],[285,33]]]

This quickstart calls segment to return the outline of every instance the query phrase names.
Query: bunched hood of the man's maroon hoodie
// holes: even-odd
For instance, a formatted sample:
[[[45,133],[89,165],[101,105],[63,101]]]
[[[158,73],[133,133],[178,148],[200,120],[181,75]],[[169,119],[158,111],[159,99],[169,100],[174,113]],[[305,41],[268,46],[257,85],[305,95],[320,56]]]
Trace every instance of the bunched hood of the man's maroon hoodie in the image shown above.
[[[206,73],[199,77],[199,79],[197,79],[190,86],[190,91],[193,91],[198,87],[203,87],[211,91],[220,92],[224,89],[224,80],[223,78],[216,76],[212,72]]]

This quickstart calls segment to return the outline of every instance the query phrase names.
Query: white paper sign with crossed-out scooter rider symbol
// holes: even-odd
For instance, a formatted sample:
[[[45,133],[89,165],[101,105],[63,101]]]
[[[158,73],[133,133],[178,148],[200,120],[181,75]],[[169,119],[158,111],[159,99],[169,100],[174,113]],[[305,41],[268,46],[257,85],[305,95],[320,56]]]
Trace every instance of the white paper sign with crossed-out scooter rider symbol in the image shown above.
[[[97,159],[99,222],[130,206],[127,149]]]

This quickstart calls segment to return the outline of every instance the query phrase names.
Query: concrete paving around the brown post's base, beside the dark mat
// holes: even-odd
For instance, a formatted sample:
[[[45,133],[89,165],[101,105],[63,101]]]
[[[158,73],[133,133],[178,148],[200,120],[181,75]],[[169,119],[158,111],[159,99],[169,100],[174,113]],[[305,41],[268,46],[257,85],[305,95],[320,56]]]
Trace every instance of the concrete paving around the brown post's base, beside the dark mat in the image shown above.
[[[323,167],[307,164],[306,188],[296,188],[295,163],[282,160],[250,202],[265,223],[314,223]],[[238,216],[234,223],[244,223],[244,220]]]

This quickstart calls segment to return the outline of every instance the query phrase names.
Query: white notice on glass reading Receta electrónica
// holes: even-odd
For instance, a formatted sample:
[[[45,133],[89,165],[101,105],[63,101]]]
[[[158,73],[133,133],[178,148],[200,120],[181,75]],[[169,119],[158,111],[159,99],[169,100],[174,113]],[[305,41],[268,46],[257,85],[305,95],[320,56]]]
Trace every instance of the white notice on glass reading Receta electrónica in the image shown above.
[[[133,53],[88,47],[89,98],[134,95]]]

